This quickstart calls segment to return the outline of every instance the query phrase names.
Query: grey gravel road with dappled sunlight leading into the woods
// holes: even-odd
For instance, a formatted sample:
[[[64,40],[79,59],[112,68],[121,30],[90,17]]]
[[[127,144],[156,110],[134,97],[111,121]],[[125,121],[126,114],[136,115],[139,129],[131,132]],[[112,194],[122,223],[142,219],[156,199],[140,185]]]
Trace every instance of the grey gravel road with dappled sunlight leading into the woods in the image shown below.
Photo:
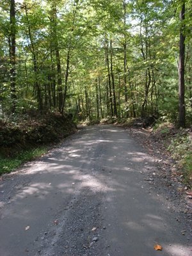
[[[4,175],[0,255],[191,255],[179,213],[158,194],[157,172],[124,129],[83,129]]]

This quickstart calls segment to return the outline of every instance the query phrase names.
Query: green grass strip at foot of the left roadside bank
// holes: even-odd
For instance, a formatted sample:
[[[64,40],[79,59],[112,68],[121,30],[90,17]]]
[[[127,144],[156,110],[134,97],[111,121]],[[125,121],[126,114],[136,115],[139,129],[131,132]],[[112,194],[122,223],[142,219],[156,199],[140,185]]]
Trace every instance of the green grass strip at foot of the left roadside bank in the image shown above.
[[[38,147],[23,150],[12,157],[0,156],[0,175],[10,173],[20,166],[20,164],[40,157],[47,152],[46,147]]]

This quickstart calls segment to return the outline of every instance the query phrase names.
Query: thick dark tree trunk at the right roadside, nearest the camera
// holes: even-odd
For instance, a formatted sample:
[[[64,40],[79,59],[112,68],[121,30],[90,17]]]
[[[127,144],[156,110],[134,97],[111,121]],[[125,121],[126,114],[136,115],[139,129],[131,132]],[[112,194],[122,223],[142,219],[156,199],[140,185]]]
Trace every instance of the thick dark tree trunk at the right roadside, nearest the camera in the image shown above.
[[[186,125],[185,113],[185,1],[182,1],[182,10],[180,11],[180,41],[179,41],[179,127]]]

